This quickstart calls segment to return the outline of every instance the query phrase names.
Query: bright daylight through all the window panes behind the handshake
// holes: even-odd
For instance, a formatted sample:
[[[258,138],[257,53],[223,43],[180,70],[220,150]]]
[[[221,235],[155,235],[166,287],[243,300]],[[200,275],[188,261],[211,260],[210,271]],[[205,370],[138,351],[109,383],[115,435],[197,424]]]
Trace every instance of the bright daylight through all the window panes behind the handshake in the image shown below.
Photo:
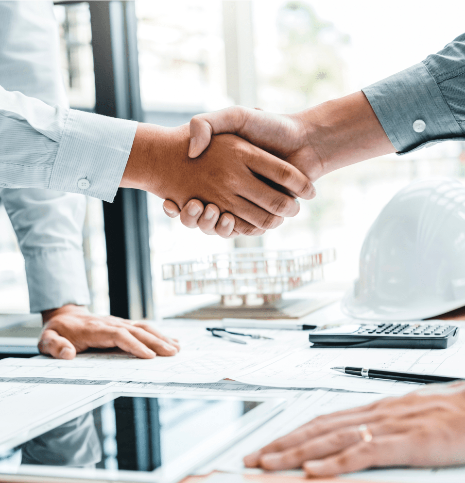
[[[228,94],[224,41],[228,1],[136,0],[147,122],[175,126],[189,122],[193,114],[234,104]],[[66,8],[56,7],[62,45],[68,46],[62,56],[65,84],[72,106],[92,110],[88,8]],[[465,4],[454,0],[253,0],[248,47],[255,60],[256,106],[293,113],[357,91],[441,49],[463,32],[464,16]],[[79,72],[71,69],[76,65]],[[301,200],[296,217],[253,243],[273,249],[334,247],[337,260],[325,268],[325,279],[345,287],[357,277],[363,238],[380,209],[413,179],[431,176],[465,181],[465,144],[442,143],[330,173],[315,183],[315,199]],[[172,283],[161,279],[163,263],[232,250],[235,243],[189,230],[179,219],[168,218],[161,205],[162,200],[149,195],[154,297],[163,313],[175,297]],[[97,267],[92,290],[100,302],[94,306],[104,312],[103,221],[100,202],[94,200],[91,206],[86,230],[87,235],[94,233],[97,248],[92,254],[87,247],[86,253]],[[0,208],[0,221],[6,218]],[[27,310],[24,267],[12,230],[0,232],[0,266],[0,311]],[[199,303],[215,299],[199,297]],[[178,297],[181,305],[182,299]]]

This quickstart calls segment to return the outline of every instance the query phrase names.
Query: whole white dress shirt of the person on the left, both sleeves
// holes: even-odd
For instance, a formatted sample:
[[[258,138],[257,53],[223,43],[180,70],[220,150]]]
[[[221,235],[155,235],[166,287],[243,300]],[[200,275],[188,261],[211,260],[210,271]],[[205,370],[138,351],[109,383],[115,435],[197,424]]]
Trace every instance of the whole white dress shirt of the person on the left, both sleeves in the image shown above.
[[[25,258],[31,312],[86,305],[86,198],[37,188],[111,201],[137,123],[69,110],[51,1],[0,1],[0,85],[0,198]],[[79,179],[90,187],[78,189]]]

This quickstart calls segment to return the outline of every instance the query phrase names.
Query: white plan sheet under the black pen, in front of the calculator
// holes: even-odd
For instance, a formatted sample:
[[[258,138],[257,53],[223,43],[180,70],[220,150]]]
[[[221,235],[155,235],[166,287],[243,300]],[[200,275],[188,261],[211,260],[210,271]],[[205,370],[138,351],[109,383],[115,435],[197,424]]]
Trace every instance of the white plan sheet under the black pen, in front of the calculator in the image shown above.
[[[369,349],[303,347],[279,361],[229,376],[238,381],[277,387],[328,387],[385,394],[405,394],[420,386],[394,381],[364,379],[331,370],[334,366],[356,366],[387,370],[409,370],[465,377],[465,331],[448,349]]]

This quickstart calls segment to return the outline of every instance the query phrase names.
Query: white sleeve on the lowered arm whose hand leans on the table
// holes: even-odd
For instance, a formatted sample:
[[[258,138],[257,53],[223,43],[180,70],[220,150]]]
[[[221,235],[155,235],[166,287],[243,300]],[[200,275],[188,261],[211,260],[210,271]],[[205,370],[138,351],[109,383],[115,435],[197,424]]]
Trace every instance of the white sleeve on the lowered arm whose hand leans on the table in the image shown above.
[[[86,197],[4,188],[0,198],[24,256],[31,312],[89,304],[82,237]]]

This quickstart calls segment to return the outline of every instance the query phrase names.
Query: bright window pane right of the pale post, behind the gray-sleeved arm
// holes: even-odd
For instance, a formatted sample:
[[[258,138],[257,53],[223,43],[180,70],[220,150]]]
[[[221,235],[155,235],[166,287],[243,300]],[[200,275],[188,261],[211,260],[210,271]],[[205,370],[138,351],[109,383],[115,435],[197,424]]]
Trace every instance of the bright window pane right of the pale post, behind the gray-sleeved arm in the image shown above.
[[[292,113],[355,92],[420,62],[464,31],[463,2],[254,0],[258,105]],[[453,4],[453,5],[452,5]],[[401,15],[399,8],[401,7]],[[450,15],[453,8],[454,15]],[[462,15],[461,15],[462,14]],[[463,143],[384,156],[330,173],[317,197],[263,237],[265,247],[334,246],[326,280],[350,282],[379,211],[418,177],[464,179]]]

